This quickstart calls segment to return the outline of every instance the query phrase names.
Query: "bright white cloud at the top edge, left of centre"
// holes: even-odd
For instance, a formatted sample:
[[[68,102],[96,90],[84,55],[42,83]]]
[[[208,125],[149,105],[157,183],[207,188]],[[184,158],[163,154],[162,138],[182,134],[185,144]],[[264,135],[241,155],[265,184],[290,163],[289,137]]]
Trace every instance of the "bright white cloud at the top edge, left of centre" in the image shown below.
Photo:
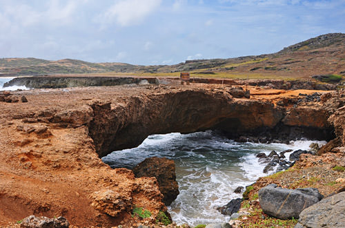
[[[106,23],[115,21],[120,26],[131,26],[140,23],[160,4],[161,0],[117,1],[103,16],[101,16],[101,20],[106,20]]]

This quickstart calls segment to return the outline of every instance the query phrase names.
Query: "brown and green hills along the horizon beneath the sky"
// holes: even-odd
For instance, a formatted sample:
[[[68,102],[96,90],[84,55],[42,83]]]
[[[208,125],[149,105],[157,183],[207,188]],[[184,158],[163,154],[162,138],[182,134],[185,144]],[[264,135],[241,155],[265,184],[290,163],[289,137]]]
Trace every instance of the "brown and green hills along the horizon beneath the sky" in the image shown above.
[[[175,65],[139,66],[123,63],[90,63],[75,59],[48,61],[34,58],[0,59],[0,75],[166,75],[188,71],[195,77],[308,78],[312,75],[345,75],[345,34],[320,35],[288,46],[278,53],[230,59],[197,59]]]

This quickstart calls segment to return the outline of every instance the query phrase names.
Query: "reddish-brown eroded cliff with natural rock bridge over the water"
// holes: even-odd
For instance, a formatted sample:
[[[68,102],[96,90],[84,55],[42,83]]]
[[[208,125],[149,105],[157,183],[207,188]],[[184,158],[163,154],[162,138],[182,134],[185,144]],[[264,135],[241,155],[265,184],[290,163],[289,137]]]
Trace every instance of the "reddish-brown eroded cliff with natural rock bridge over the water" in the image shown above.
[[[112,170],[99,159],[152,133],[219,129],[231,137],[332,139],[335,129],[333,147],[342,150],[342,92],[319,91],[327,95],[317,102],[299,95],[315,91],[251,88],[248,99],[234,98],[230,89],[193,84],[14,92],[28,102],[0,102],[1,225],[32,213],[66,216],[78,226],[128,225],[137,222],[133,207],[152,211],[154,222],[166,211],[155,179]]]

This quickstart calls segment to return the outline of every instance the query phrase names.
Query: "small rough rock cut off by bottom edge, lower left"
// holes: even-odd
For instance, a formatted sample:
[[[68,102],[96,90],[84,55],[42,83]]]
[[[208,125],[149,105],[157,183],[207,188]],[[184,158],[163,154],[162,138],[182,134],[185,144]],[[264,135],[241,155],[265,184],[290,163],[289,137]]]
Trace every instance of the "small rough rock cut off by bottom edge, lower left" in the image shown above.
[[[62,216],[58,218],[47,218],[44,216],[28,216],[21,222],[23,228],[68,228],[70,224]]]

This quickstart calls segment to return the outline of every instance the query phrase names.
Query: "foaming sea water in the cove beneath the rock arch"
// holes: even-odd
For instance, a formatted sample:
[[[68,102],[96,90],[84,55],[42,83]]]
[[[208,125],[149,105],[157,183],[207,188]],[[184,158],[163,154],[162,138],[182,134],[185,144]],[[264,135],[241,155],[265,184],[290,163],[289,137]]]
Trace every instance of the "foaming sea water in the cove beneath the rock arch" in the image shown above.
[[[239,143],[213,132],[190,134],[170,133],[150,135],[134,149],[114,151],[103,157],[112,168],[132,169],[150,157],[175,160],[179,196],[168,207],[172,220],[178,225],[227,222],[230,217],[217,211],[234,198],[242,198],[233,191],[252,184],[263,173],[266,164],[260,164],[257,153],[309,149],[315,141],[295,141],[290,144]],[[290,153],[286,153],[286,158]],[[269,174],[269,173],[268,173]]]

